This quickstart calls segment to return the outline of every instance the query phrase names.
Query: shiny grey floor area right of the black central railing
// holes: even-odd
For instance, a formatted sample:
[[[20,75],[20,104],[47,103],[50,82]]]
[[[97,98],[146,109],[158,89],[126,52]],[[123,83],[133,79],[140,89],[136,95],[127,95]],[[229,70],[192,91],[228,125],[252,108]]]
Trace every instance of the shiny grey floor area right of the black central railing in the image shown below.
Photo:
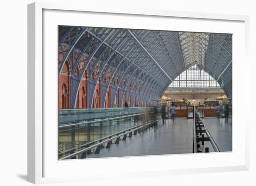
[[[221,152],[232,151],[232,119],[225,123],[224,118],[217,122],[216,117],[204,118],[204,125]]]

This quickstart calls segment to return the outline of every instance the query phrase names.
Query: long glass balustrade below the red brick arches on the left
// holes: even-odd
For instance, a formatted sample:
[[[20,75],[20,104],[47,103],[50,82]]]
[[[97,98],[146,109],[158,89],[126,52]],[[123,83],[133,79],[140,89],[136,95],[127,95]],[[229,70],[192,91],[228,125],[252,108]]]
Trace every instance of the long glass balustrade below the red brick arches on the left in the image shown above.
[[[155,120],[156,113],[154,107],[60,109],[59,158],[109,139],[114,134]],[[91,149],[88,154],[94,153],[95,149]]]

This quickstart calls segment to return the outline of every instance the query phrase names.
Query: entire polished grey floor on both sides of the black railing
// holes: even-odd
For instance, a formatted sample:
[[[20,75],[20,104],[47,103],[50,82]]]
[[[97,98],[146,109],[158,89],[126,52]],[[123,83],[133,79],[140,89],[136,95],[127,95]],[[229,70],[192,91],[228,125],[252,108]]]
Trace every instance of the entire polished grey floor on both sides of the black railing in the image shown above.
[[[222,118],[217,122],[213,117],[205,118],[204,123],[220,151],[232,151],[232,120],[225,123]],[[87,158],[192,153],[193,129],[193,119],[175,118],[175,122],[168,119],[164,125],[159,119],[157,127],[137,133]],[[209,152],[214,152],[209,141],[205,146],[209,147]]]

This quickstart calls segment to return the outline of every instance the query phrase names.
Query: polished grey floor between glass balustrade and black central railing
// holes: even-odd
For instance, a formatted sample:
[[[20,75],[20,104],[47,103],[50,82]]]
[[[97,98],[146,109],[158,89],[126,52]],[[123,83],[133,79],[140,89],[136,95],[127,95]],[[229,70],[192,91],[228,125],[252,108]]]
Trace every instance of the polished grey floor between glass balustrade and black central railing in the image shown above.
[[[193,128],[193,119],[175,118],[175,122],[168,119],[164,125],[159,119],[155,128],[127,137],[126,141],[87,158],[192,153]]]

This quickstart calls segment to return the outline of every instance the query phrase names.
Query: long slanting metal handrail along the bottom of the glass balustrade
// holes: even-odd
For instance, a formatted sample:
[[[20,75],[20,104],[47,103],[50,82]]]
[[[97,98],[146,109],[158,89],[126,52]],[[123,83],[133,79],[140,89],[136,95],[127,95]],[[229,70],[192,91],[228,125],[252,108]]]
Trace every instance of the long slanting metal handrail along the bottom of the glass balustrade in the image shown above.
[[[120,134],[121,132],[115,133],[115,134],[113,134],[113,135],[115,135],[115,137],[109,138],[108,140],[105,140],[105,141],[101,141],[100,143],[97,143],[97,144],[95,144],[95,145],[92,145],[92,146],[90,146],[90,147],[88,147],[88,148],[81,149],[80,151],[77,151],[77,152],[75,152],[75,153],[73,153],[73,154],[69,154],[69,155],[67,155],[67,156],[65,156],[65,157],[63,157],[63,158],[60,158],[59,160],[69,159],[69,158],[72,158],[72,157],[74,157],[74,156],[76,156],[76,155],[82,154],[82,153],[84,153],[84,152],[86,152],[86,151],[88,151],[88,150],[91,150],[92,148],[96,148],[96,147],[98,147],[98,146],[100,146],[100,145],[103,145],[104,143],[107,143],[108,141],[113,141],[113,140],[115,140],[115,139],[117,139],[117,138],[120,138],[120,137],[123,136],[123,135],[127,135],[128,133],[132,133],[132,132],[134,132],[134,131],[136,131],[136,130],[142,128],[142,127],[145,127],[145,126],[147,126],[147,125],[149,125],[149,124],[152,124],[152,123],[154,123],[154,122],[156,122],[156,121],[157,121],[157,120],[151,120],[151,121],[149,121],[149,122],[147,122],[147,123],[143,123],[143,124],[141,124],[141,125],[137,125],[137,126],[134,127],[134,129],[130,129],[130,130],[127,129],[127,132],[125,132],[125,133],[122,132],[123,134]],[[113,136],[113,135],[111,135],[111,136]]]

